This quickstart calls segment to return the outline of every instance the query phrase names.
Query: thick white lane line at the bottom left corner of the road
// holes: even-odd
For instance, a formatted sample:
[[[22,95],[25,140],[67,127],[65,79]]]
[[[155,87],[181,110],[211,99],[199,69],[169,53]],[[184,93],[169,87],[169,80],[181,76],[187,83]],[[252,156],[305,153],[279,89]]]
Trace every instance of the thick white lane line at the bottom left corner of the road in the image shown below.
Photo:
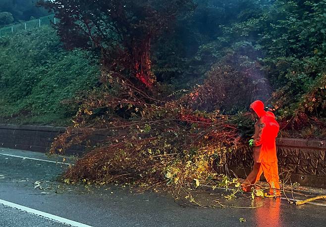
[[[72,221],[72,220],[69,220],[69,219],[61,218],[61,217],[58,217],[58,216],[55,216],[55,215],[52,215],[52,214],[48,214],[48,213],[45,213],[45,212],[42,212],[42,211],[38,211],[38,210],[29,208],[29,207],[21,206],[21,205],[16,204],[16,203],[11,203],[11,202],[8,202],[8,201],[2,200],[2,199],[0,199],[0,204],[3,204],[4,206],[7,206],[7,207],[13,207],[13,208],[16,208],[18,210],[26,211],[27,213],[30,213],[30,214],[42,216],[44,218],[51,219],[51,220],[54,220],[56,222],[60,222],[60,223],[66,224],[66,225],[70,225],[70,226],[74,226],[74,227],[91,227],[91,226],[88,226],[88,225],[85,225],[85,224],[82,224],[82,223],[79,223],[79,222],[75,222],[75,221]]]

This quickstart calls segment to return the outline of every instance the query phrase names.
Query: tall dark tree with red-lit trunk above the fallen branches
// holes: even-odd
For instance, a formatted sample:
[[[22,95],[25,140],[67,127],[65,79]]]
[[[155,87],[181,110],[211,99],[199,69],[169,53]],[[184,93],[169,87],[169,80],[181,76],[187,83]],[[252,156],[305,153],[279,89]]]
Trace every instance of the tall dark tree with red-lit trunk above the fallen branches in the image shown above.
[[[104,63],[125,70],[151,87],[151,45],[173,27],[178,15],[194,6],[192,0],[40,0],[53,10],[67,48],[98,48]]]

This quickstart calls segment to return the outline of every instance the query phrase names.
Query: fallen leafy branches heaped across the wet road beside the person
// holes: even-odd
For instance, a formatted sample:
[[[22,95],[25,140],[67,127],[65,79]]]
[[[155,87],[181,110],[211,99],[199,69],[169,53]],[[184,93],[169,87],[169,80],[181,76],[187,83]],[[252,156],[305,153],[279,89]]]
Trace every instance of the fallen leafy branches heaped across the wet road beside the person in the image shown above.
[[[101,82],[101,89],[69,101],[80,106],[74,125],[51,149],[60,153],[92,135],[108,135],[68,170],[64,178],[70,182],[189,191],[216,179],[215,169],[225,168],[227,152],[240,145],[236,119],[184,105],[185,99],[194,99],[193,92],[160,100],[118,73],[103,73]]]

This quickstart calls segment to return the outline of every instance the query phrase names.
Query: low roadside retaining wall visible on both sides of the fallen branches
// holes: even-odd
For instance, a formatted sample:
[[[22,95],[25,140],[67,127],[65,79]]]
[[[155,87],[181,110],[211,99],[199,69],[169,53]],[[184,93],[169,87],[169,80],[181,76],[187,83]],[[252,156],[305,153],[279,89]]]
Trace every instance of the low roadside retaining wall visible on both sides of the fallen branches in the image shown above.
[[[49,151],[54,137],[63,132],[65,128],[62,127],[0,125],[0,147],[45,153]],[[92,143],[107,136],[108,132],[94,135]],[[278,138],[276,144],[281,179],[290,178],[291,182],[301,185],[326,188],[326,139]],[[85,144],[75,145],[66,154],[82,155],[85,150]],[[253,164],[252,151],[242,148],[229,154],[227,160],[229,170],[238,177],[245,177]]]

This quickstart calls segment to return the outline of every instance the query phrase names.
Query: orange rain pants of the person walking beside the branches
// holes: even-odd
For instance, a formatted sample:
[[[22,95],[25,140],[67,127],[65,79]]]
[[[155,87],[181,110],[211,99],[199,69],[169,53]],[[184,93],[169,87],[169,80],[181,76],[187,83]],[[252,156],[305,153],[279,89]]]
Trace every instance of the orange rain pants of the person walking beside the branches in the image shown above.
[[[270,184],[269,194],[275,197],[280,196],[277,162],[256,162],[253,166],[253,170],[242,184],[242,189],[246,192],[250,192],[253,185],[259,181],[262,173],[264,173],[266,181]]]

